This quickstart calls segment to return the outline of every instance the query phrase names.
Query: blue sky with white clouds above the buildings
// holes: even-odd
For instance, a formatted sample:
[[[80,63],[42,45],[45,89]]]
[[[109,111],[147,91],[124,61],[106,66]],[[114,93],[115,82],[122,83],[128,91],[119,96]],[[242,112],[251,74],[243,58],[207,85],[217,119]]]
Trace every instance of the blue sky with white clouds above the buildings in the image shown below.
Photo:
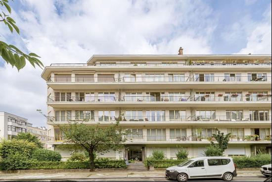
[[[14,0],[20,35],[0,40],[50,63],[94,54],[271,54],[271,0]],[[19,72],[0,58],[0,111],[45,126],[42,69]]]

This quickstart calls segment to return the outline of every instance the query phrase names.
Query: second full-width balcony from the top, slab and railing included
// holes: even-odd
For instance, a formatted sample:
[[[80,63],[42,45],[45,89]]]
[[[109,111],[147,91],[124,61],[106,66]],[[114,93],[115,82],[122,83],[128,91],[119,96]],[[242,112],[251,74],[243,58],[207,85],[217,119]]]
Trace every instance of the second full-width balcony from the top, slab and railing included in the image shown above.
[[[271,95],[47,97],[52,107],[270,107]],[[182,104],[182,106],[181,106]]]

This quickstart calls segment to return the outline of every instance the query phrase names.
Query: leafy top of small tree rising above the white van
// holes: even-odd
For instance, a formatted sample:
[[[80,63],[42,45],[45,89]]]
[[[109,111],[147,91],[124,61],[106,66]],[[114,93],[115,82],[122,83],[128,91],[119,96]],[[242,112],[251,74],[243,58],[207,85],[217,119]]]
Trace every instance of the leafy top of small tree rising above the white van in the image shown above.
[[[224,151],[227,149],[227,145],[228,145],[228,141],[229,141],[229,137],[231,133],[227,133],[225,135],[224,132],[221,132],[218,128],[215,128],[215,129],[217,133],[216,134],[213,133],[213,137],[215,138],[217,143],[214,143],[213,141],[211,141],[211,144],[217,147],[218,149],[220,149],[222,153],[224,153]]]

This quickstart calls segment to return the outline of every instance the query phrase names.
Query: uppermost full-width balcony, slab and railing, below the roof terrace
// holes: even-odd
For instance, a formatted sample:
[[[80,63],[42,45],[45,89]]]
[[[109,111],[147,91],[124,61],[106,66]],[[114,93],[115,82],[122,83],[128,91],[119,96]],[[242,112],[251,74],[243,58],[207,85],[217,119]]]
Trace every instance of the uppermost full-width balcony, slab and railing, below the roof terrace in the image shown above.
[[[224,83],[224,84],[222,84]],[[271,89],[271,76],[264,77],[189,77],[189,76],[141,76],[141,77],[49,77],[47,84],[53,89],[228,89],[229,87]]]

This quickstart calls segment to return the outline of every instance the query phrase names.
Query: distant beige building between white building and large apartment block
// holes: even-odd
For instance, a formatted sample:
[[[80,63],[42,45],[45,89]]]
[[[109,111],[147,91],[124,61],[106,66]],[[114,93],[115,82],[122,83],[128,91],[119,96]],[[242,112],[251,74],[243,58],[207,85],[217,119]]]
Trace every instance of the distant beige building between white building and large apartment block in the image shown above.
[[[27,123],[27,132],[32,135],[37,136],[40,141],[43,143],[44,147],[47,148],[46,139],[47,139],[47,129],[45,127],[34,127],[32,123]]]

